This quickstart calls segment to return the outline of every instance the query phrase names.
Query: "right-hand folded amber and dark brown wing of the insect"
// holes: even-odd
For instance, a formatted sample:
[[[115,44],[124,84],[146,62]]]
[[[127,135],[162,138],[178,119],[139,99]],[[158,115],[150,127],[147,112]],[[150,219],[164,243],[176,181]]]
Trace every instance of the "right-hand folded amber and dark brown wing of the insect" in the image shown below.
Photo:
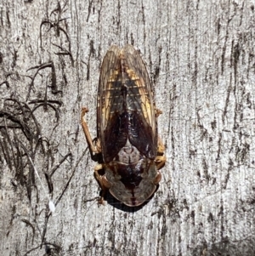
[[[157,126],[155,105],[150,78],[144,61],[132,45],[122,48],[121,58],[129,80],[127,86],[128,111],[133,112],[133,124],[128,138],[139,152],[150,158],[156,157]],[[125,79],[123,79],[125,80]]]

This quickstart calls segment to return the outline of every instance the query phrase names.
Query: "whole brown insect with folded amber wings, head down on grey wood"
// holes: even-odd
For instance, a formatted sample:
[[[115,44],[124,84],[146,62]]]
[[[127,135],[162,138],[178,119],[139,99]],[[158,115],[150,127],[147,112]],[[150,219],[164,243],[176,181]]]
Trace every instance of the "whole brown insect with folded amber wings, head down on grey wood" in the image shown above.
[[[82,128],[90,150],[102,154],[94,174],[103,194],[129,207],[139,206],[156,191],[159,169],[166,162],[164,145],[157,134],[156,109],[144,61],[131,45],[111,46],[99,77],[97,127],[92,139],[82,108]],[[102,174],[103,171],[103,174]]]

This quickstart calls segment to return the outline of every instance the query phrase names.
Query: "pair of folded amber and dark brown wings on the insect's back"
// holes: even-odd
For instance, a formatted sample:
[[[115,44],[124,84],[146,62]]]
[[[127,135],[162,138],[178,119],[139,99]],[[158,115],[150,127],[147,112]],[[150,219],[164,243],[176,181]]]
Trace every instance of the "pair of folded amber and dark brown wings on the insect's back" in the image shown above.
[[[132,121],[130,121],[132,120]],[[105,162],[126,145],[127,136],[141,154],[156,157],[153,95],[144,61],[131,45],[112,46],[99,78],[98,133]]]

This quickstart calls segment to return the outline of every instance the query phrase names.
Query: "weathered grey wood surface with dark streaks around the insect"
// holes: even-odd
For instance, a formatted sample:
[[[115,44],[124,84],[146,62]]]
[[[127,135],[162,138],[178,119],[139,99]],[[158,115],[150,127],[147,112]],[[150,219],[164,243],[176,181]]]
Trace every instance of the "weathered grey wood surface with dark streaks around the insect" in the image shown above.
[[[253,1],[1,2],[1,255],[252,255],[254,27]],[[96,135],[100,65],[126,43],[147,63],[167,147],[139,209],[97,204],[79,120],[88,106]],[[27,155],[51,177],[50,216]]]

